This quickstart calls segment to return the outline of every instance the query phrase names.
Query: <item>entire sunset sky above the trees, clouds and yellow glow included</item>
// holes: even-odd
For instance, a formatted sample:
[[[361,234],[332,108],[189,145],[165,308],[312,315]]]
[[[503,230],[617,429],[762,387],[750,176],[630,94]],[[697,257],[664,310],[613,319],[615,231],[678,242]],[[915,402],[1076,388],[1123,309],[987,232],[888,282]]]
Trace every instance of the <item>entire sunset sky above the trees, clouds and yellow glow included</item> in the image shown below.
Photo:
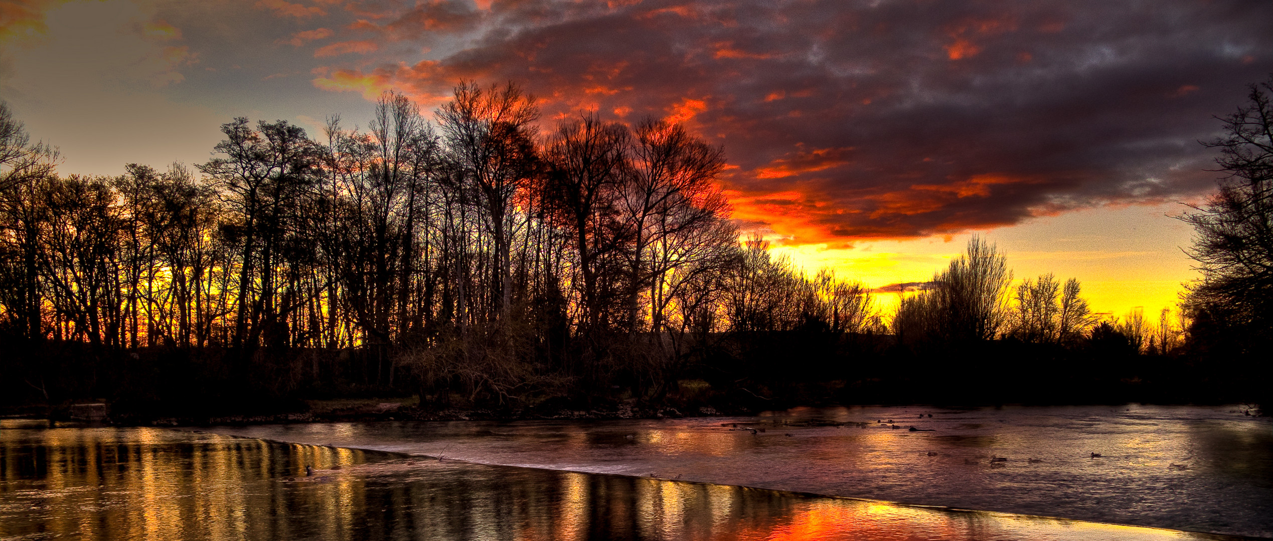
[[[514,80],[545,128],[597,109],[723,145],[735,217],[807,268],[924,281],[980,232],[1115,315],[1193,278],[1170,216],[1214,188],[1198,141],[1270,71],[1267,0],[0,1],[0,99],[64,174]]]

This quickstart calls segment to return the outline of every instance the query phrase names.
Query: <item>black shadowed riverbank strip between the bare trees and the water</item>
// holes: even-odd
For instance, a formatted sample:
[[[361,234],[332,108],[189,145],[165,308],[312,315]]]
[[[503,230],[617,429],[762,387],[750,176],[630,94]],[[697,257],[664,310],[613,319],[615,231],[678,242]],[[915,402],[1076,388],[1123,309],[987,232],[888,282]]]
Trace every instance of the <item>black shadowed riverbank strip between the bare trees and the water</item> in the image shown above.
[[[0,415],[70,419],[83,417],[71,406],[104,404],[104,419],[143,425],[675,418],[855,404],[1273,404],[1273,386],[1230,358],[1110,357],[1013,340],[913,351],[887,337],[812,331],[714,338],[722,342],[675,364],[523,359],[518,378],[499,385],[480,372],[421,372],[365,348],[261,349],[244,359],[218,348],[103,353],[0,340],[13,353],[0,356]]]

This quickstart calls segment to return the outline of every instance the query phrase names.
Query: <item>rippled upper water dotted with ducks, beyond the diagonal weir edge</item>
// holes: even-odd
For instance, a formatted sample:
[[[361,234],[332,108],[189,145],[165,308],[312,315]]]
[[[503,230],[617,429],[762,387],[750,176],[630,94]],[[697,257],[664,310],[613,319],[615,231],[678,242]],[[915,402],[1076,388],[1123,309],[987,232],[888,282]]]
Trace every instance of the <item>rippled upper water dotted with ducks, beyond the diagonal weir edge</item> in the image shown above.
[[[653,474],[1273,537],[1273,419],[1246,417],[1235,408],[863,406],[751,418],[336,423],[214,431],[481,464]]]

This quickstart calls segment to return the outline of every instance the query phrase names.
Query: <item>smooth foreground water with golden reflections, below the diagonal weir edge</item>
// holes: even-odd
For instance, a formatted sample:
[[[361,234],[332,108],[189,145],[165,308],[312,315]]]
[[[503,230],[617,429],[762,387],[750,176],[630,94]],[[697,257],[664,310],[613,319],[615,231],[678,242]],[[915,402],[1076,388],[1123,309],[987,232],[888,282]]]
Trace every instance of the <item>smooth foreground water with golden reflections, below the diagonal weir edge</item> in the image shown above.
[[[155,428],[14,424],[0,420],[0,540],[1222,538]]]

